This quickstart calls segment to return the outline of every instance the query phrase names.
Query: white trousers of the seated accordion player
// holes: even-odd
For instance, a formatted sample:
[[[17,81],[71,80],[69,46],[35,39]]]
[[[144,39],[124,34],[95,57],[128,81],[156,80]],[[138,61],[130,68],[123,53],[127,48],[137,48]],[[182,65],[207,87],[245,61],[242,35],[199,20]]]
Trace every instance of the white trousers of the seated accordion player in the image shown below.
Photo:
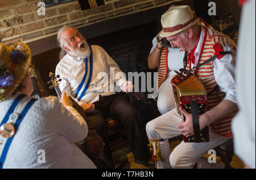
[[[148,139],[159,139],[159,155],[162,157],[158,162],[157,168],[193,168],[196,162],[200,161],[208,150],[224,143],[230,138],[220,136],[213,132],[209,127],[208,143],[184,143],[179,145],[170,154],[170,145],[168,139],[181,135],[177,124],[182,122],[181,116],[177,113],[176,108],[151,120],[146,125]],[[217,164],[205,165],[201,168],[219,168]]]

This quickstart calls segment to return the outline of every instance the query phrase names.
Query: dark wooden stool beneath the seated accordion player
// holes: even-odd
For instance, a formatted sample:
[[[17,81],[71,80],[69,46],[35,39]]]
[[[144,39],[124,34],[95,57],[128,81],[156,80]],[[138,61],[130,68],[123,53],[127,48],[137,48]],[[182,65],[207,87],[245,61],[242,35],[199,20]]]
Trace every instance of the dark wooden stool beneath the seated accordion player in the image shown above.
[[[216,150],[216,155],[221,158],[222,162],[224,162],[225,168],[232,169],[230,162],[234,155],[233,138],[217,146],[214,150]]]

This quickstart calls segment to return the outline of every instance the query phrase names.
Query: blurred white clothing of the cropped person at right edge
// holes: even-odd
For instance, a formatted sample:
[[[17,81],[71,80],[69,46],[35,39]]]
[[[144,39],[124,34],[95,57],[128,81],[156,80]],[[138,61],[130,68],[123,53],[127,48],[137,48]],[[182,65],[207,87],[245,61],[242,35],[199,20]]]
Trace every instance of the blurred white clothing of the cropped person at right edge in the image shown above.
[[[237,48],[237,103],[232,119],[234,152],[255,168],[255,1],[242,6]]]

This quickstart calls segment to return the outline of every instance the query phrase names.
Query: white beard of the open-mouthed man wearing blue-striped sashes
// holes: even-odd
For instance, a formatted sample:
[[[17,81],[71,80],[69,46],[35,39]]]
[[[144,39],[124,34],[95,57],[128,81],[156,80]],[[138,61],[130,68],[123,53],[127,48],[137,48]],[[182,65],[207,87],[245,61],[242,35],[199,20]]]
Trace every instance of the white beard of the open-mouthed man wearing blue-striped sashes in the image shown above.
[[[84,45],[84,48],[81,48],[81,45]],[[90,48],[86,40],[82,40],[78,44],[78,48],[68,47],[71,49],[70,55],[73,57],[86,58],[90,56]]]

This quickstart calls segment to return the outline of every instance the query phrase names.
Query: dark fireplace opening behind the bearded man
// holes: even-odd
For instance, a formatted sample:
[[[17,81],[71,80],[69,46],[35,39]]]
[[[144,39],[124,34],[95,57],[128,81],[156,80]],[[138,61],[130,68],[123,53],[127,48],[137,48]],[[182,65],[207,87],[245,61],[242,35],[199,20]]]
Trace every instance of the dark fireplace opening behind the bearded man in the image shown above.
[[[152,47],[152,39],[160,30],[160,22],[154,21],[92,37],[86,39],[86,41],[91,45],[100,45],[113,59],[134,55],[139,70],[143,69],[146,72],[156,72],[156,69],[148,69],[147,56]],[[86,32],[82,32],[83,36],[85,34]],[[49,89],[47,82],[49,81],[49,72],[55,72],[56,65],[59,62],[59,52],[60,48],[57,47],[32,57],[36,80],[42,97],[56,95],[54,90]]]

